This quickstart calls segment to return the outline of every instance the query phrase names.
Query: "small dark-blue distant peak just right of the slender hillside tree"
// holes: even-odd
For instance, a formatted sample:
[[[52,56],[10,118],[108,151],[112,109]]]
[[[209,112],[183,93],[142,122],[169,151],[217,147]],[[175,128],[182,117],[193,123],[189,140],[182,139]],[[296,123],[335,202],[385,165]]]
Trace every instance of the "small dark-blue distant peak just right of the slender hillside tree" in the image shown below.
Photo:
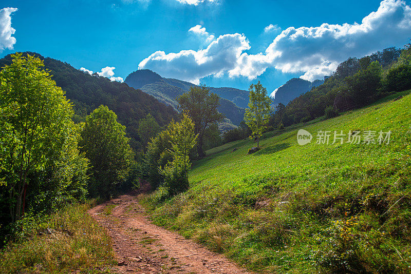
[[[324,84],[323,80],[315,80],[313,82],[303,80],[301,78],[293,78],[281,87],[277,88],[275,92],[274,104],[282,103],[287,105],[288,102],[300,96],[302,93],[306,93],[313,87],[317,87]]]

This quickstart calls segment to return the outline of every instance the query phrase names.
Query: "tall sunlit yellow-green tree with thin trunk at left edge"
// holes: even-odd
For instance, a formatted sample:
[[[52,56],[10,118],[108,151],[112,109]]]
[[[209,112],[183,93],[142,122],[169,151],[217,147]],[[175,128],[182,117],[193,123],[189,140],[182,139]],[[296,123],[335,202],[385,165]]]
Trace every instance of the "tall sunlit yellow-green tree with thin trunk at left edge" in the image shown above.
[[[29,178],[60,154],[73,111],[63,90],[31,55],[12,55],[0,72],[2,178],[9,194],[11,221],[24,214]],[[3,131],[4,130],[4,131]]]

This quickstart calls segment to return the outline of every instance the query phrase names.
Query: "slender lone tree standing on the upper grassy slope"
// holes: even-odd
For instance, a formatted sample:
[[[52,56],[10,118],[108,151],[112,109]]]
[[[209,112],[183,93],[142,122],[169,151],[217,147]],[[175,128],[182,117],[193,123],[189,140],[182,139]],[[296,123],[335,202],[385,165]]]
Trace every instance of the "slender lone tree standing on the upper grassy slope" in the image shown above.
[[[250,103],[244,115],[244,120],[250,127],[252,134],[257,137],[257,147],[259,148],[259,140],[261,134],[267,128],[266,125],[270,119],[271,99],[267,95],[267,89],[260,84],[251,84],[250,88]]]

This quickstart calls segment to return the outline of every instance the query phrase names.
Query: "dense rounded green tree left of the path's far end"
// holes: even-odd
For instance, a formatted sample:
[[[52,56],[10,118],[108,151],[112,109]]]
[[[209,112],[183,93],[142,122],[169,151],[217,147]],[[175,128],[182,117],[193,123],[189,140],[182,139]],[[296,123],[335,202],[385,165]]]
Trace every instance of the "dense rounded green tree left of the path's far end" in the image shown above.
[[[125,126],[117,115],[100,106],[87,116],[79,145],[90,160],[91,194],[109,198],[117,184],[127,179],[133,151],[125,136]]]

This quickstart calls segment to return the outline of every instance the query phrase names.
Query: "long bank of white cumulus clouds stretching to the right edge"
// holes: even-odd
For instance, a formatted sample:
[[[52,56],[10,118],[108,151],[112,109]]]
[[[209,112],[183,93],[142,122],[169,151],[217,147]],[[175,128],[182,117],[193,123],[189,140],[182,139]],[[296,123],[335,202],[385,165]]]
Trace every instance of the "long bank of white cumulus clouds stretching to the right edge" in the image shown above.
[[[195,2],[195,0],[193,0]],[[273,31],[274,25],[265,28]],[[208,33],[201,25],[193,33]],[[244,34],[225,34],[203,50],[179,53],[156,51],[139,69],[149,68],[166,77],[198,83],[208,75],[228,73],[231,77],[254,79],[273,67],[285,73],[301,73],[309,81],[331,74],[350,56],[364,56],[393,45],[403,45],[411,36],[411,8],[401,0],[384,0],[361,24],[322,24],[318,27],[289,27],[278,34],[265,52],[249,54]]]

